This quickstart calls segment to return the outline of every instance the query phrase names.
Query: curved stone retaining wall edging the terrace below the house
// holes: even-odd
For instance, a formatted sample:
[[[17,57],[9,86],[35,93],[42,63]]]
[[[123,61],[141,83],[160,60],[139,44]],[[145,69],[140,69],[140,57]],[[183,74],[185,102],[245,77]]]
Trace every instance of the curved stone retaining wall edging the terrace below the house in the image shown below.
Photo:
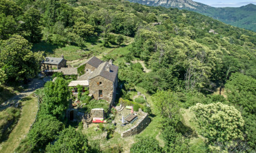
[[[141,110],[139,110],[139,111],[141,111]],[[137,135],[145,129],[145,127],[150,123],[151,120],[148,117],[147,113],[144,113],[142,111],[141,111],[141,113],[143,114],[143,117],[140,119],[139,123],[137,125],[131,127],[131,129],[124,131],[121,134],[121,137],[129,137],[129,136]]]

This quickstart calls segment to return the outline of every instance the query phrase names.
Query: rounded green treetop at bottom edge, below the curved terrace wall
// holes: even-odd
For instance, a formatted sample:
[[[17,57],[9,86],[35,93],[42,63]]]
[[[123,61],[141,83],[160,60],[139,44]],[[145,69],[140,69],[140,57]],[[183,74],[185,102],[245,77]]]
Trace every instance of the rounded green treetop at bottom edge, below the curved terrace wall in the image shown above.
[[[132,153],[150,153],[150,152],[161,152],[162,148],[159,146],[159,142],[152,137],[141,137],[131,147]]]

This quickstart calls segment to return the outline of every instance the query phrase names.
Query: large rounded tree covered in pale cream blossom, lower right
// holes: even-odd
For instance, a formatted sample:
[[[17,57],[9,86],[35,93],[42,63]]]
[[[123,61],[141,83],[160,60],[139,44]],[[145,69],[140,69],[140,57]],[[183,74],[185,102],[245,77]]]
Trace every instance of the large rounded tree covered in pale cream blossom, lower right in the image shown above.
[[[207,138],[209,143],[222,142],[224,145],[233,145],[233,141],[244,139],[244,120],[234,107],[222,103],[198,103],[191,107],[191,110],[195,111],[200,134]]]

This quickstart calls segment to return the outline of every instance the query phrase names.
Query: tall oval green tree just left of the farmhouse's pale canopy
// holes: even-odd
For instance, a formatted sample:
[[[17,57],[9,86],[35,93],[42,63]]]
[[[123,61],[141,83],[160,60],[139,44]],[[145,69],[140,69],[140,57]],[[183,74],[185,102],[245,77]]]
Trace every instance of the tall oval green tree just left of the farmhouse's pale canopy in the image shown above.
[[[70,91],[65,79],[57,78],[54,82],[47,82],[44,87],[44,107],[48,114],[63,117],[63,111],[69,106]]]

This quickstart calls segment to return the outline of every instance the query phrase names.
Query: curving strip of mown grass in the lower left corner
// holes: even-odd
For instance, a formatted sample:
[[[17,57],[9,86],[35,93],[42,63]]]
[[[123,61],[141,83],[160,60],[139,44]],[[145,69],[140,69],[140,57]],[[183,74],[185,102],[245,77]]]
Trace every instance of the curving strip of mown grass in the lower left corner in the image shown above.
[[[0,152],[14,152],[18,144],[26,137],[37,112],[37,98],[32,95],[22,99],[22,112],[7,141],[0,144]]]

